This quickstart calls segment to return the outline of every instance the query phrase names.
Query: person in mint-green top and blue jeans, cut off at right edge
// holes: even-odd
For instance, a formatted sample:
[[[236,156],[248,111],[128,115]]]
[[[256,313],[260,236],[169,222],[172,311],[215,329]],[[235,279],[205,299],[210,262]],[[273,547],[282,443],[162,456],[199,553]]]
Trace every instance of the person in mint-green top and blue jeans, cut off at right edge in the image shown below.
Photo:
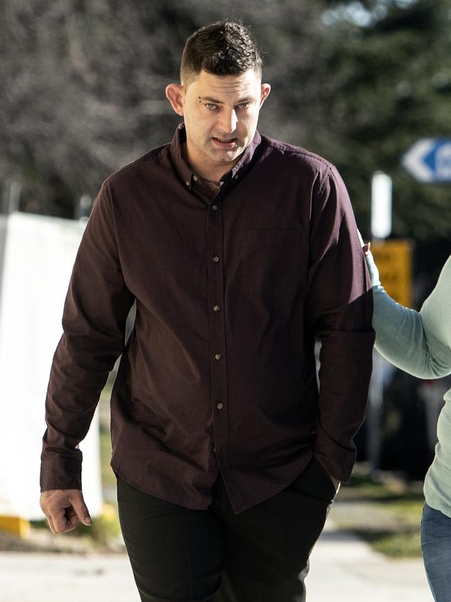
[[[391,299],[364,245],[373,286],[375,346],[384,358],[418,378],[451,373],[451,256],[419,312]],[[435,455],[425,477],[421,549],[436,602],[451,602],[451,389],[437,423]]]

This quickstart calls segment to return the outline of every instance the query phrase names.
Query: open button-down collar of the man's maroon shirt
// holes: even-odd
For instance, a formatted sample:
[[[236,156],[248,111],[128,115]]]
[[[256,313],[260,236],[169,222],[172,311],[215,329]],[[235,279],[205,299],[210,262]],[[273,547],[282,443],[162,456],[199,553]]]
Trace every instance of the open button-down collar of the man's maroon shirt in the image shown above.
[[[182,145],[184,142],[186,142],[186,140],[187,135],[185,131],[185,124],[179,124],[171,142],[171,158],[174,166],[176,167],[178,176],[185,184],[187,189],[191,190],[192,178],[195,174],[183,158]],[[222,176],[221,183],[231,180],[237,180],[238,178],[243,176],[248,171],[248,169],[250,169],[254,159],[257,156],[257,149],[259,148],[260,142],[262,142],[262,137],[257,131],[255,131],[253,140],[250,142],[250,144],[248,144],[248,147],[246,147],[244,153],[241,155],[236,165],[234,165],[232,169],[229,169],[229,171]]]

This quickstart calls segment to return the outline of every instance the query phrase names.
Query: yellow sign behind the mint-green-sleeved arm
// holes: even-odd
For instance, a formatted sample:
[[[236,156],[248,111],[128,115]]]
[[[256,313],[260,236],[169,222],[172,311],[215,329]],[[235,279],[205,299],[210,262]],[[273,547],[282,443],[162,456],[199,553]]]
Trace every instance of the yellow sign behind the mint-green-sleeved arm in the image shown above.
[[[407,239],[371,242],[382,286],[392,299],[406,307],[412,303],[412,248],[412,241]]]

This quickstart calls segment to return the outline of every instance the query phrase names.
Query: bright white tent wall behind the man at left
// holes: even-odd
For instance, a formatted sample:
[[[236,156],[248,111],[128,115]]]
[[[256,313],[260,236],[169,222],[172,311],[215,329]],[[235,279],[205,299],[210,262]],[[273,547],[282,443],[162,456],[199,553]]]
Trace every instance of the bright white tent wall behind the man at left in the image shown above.
[[[85,224],[13,212],[0,216],[0,515],[40,519],[44,401],[62,335],[62,308]],[[101,514],[98,412],[80,444],[83,493]]]

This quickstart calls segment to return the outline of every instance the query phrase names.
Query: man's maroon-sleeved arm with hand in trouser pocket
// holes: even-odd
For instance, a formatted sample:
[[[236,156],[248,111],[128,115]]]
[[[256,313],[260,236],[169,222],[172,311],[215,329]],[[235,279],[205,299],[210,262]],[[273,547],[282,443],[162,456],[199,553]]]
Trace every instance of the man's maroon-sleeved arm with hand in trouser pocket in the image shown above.
[[[371,376],[371,283],[348,193],[335,169],[318,185],[313,203],[306,324],[321,338],[314,454],[327,474],[347,481]]]

